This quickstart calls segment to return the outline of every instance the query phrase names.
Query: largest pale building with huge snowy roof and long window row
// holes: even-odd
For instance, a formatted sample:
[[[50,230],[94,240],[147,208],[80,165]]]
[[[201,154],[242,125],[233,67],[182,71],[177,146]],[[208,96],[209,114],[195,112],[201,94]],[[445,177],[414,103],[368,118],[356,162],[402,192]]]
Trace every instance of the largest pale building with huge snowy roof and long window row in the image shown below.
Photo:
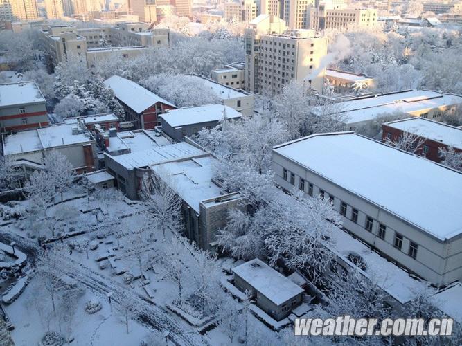
[[[330,199],[348,232],[411,273],[462,279],[460,172],[353,132],[278,145],[273,170],[285,190]]]

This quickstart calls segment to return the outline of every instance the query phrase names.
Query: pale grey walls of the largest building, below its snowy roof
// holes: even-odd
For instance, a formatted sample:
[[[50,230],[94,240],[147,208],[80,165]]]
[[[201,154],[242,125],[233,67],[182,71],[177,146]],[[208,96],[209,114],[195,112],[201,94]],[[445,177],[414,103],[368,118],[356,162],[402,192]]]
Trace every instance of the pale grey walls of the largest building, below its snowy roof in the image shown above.
[[[283,168],[287,169],[287,180],[283,179]],[[454,237],[450,241],[442,242],[432,237],[424,230],[407,223],[396,215],[392,215],[375,204],[358,197],[323,177],[305,169],[301,165],[287,160],[280,154],[273,152],[273,170],[276,184],[287,191],[299,188],[300,179],[305,179],[305,193],[309,184],[313,185],[313,195],[319,193],[319,188],[334,198],[334,208],[340,211],[341,202],[347,204],[346,217],[342,216],[343,225],[371,247],[376,248],[386,257],[390,257],[409,271],[416,273],[434,284],[447,284],[462,278],[462,237]],[[290,184],[290,172],[295,174],[294,185]],[[398,196],[397,196],[398,198]],[[429,201],[416,201],[427,203]],[[351,220],[352,209],[358,210],[357,222]],[[373,228],[369,232],[365,228],[366,215],[373,218]],[[386,226],[384,239],[377,236],[379,224]],[[403,236],[402,248],[393,246],[396,233]],[[416,259],[408,255],[410,242],[418,244]]]

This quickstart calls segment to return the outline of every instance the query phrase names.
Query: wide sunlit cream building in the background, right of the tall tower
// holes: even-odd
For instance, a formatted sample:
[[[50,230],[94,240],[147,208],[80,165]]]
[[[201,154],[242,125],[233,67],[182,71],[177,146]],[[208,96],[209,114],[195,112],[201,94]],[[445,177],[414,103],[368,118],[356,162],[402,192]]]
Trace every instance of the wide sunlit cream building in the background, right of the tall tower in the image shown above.
[[[372,8],[353,10],[329,8],[321,4],[310,10],[309,28],[315,30],[346,28],[357,25],[372,27],[377,24],[377,10]]]

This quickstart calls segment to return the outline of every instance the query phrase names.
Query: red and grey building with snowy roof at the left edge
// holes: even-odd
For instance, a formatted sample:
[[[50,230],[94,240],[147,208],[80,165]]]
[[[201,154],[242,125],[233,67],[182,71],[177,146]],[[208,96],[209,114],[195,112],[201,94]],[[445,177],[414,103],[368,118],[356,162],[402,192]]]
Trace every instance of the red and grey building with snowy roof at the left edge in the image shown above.
[[[45,126],[46,101],[35,82],[0,84],[0,132]]]

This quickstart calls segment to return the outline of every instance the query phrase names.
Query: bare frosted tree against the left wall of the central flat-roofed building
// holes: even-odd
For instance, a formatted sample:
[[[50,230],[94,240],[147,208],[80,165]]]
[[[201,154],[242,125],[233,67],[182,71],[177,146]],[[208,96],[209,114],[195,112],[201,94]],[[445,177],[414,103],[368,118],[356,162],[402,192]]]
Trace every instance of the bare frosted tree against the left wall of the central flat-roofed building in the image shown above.
[[[145,176],[141,188],[141,199],[147,204],[147,215],[154,228],[163,238],[166,230],[178,233],[181,230],[181,200],[170,187],[171,179],[165,173],[155,177]]]

